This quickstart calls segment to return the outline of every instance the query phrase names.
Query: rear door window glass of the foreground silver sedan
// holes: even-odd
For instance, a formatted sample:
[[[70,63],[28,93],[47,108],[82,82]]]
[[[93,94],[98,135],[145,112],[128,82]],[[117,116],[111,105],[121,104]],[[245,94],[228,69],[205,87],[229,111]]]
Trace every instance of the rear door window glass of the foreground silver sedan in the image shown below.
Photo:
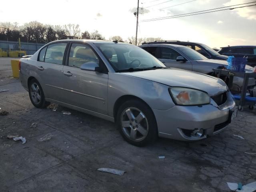
[[[50,44],[47,47],[44,62],[62,65],[67,43]]]

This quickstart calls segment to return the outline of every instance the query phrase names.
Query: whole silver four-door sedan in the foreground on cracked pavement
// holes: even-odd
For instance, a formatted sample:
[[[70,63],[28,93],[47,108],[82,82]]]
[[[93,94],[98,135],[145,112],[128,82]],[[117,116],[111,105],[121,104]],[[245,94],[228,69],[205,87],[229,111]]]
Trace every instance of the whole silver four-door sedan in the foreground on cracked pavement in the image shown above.
[[[157,136],[200,140],[217,134],[237,108],[219,78],[166,68],[130,44],[58,40],[20,59],[20,82],[37,108],[50,102],[116,122],[142,146]]]

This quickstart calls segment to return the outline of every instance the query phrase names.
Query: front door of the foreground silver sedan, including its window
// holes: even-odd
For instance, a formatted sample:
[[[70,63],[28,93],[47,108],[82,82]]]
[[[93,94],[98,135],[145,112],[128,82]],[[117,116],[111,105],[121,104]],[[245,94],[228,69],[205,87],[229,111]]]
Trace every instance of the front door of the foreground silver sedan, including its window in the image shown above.
[[[88,44],[70,44],[63,68],[65,103],[90,111],[107,114],[108,72],[81,70],[82,64],[96,62],[102,68],[104,63]]]

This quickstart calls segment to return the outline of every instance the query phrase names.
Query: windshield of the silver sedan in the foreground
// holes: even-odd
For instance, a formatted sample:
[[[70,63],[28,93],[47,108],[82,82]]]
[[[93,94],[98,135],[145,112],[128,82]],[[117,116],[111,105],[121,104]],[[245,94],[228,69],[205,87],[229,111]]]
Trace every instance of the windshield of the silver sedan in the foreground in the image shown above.
[[[147,68],[166,68],[162,62],[142,48],[128,44],[95,44],[109,60],[114,70],[144,70]]]

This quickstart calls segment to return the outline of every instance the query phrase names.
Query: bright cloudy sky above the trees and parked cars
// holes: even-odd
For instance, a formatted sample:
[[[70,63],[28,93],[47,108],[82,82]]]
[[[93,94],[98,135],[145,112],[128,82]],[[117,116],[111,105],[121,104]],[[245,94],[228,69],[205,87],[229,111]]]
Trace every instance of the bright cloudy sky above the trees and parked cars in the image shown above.
[[[142,22],[142,20],[186,14],[256,0],[140,0],[138,38],[161,37],[204,43],[220,48],[227,45],[256,45],[256,6]],[[192,1],[182,4],[184,2]],[[79,24],[81,32],[98,30],[106,39],[136,34],[133,12],[137,0],[12,0],[2,1],[0,22],[30,21],[43,24]],[[158,4],[158,5],[157,5]],[[180,4],[180,5],[177,5]],[[250,5],[252,5],[250,4]],[[172,6],[170,8],[166,8]],[[243,5],[241,5],[243,6]],[[162,9],[164,8],[164,9]]]

